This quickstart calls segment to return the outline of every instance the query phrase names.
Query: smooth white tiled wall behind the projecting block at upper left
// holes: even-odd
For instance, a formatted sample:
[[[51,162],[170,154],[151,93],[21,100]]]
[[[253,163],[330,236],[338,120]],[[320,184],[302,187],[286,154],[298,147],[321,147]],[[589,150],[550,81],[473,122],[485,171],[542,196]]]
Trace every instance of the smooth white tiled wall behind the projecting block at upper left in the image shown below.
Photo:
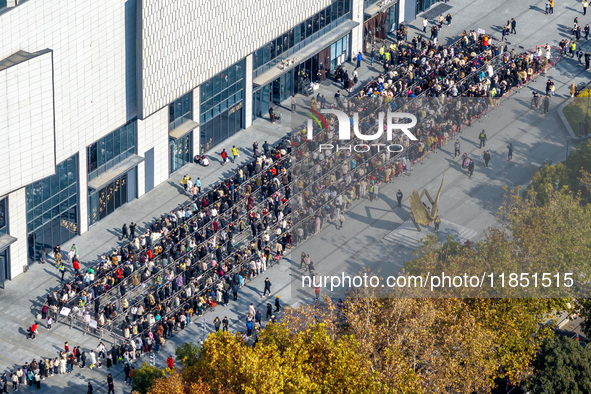
[[[0,59],[53,51],[56,163],[126,123],[125,33],[119,1],[35,0],[0,15]]]

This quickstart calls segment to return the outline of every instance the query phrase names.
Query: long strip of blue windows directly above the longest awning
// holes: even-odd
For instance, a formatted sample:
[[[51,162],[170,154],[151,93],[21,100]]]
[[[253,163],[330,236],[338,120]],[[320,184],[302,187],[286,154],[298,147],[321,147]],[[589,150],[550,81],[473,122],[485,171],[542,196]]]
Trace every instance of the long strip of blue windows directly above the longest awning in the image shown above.
[[[253,53],[254,77],[273,67],[281,58],[292,55],[335,28],[350,12],[350,0],[333,0],[330,6],[255,51]]]

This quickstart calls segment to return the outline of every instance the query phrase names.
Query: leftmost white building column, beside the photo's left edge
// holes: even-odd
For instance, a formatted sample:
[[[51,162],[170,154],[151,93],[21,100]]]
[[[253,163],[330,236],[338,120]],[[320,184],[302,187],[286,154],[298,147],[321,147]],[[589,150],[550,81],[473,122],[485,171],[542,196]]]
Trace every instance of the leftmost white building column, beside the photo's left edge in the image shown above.
[[[8,233],[16,238],[10,245],[10,279],[23,273],[28,262],[27,252],[27,199],[25,188],[8,195]]]

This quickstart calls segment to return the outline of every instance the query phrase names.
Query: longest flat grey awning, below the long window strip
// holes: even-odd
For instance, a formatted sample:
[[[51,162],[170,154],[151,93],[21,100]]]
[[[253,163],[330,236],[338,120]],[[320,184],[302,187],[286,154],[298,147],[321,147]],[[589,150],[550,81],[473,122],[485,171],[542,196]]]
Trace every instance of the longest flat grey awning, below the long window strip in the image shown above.
[[[296,59],[297,58],[297,61],[295,61],[292,65],[285,67],[284,69],[281,69],[280,66],[274,66],[274,67],[270,68],[269,70],[265,71],[264,73],[262,73],[261,75],[259,75],[258,77],[256,77],[252,81],[253,84],[256,86],[265,86],[265,85],[273,82],[274,80],[276,80],[277,78],[279,78],[280,76],[282,76],[283,74],[288,72],[289,70],[295,68],[295,66],[297,66],[298,64],[301,64],[302,62],[304,62],[304,61],[310,59],[312,56],[316,55],[318,52],[320,52],[321,50],[323,50],[324,48],[326,48],[327,46],[329,46],[333,42],[345,37],[357,25],[359,25],[359,22],[355,22],[352,20],[348,20],[348,21],[344,22],[343,24],[339,25],[334,30],[331,30],[330,32],[326,33],[325,35],[323,35],[322,37],[320,37],[316,41],[312,41],[312,43],[310,45],[308,45],[307,47],[300,49],[299,51],[297,51],[293,55],[289,56],[289,59]]]

